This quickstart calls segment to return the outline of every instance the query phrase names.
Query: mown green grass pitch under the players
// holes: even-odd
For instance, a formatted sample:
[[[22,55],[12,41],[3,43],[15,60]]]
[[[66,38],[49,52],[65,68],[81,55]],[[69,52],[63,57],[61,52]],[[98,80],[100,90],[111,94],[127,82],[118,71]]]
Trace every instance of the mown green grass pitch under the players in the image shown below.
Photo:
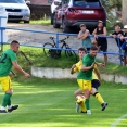
[[[15,79],[14,79],[15,80]],[[115,127],[118,117],[127,114],[127,86],[103,82],[100,93],[109,102],[101,111],[99,102],[91,97],[91,115],[75,112],[73,92],[78,89],[76,80],[48,80],[21,77],[13,81],[13,104],[18,110],[0,114],[0,127]],[[3,91],[0,90],[0,100]],[[127,127],[124,117],[116,127]]]

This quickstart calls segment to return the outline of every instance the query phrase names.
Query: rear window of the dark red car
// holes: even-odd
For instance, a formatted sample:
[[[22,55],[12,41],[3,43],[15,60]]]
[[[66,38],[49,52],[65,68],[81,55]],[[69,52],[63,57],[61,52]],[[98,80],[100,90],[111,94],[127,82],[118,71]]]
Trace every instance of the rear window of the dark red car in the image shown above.
[[[100,7],[99,0],[74,0],[74,5],[76,7],[86,7],[86,8],[92,8],[92,7]]]

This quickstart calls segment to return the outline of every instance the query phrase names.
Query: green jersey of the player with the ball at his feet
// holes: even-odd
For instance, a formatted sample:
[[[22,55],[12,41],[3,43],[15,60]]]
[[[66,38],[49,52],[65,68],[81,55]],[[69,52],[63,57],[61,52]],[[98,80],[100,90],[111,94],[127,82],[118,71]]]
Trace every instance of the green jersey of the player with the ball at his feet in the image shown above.
[[[91,66],[92,63],[94,63],[94,58],[90,54],[86,54],[82,59],[82,65],[88,67]],[[93,68],[89,71],[80,71],[78,73],[77,79],[92,80],[92,71]]]

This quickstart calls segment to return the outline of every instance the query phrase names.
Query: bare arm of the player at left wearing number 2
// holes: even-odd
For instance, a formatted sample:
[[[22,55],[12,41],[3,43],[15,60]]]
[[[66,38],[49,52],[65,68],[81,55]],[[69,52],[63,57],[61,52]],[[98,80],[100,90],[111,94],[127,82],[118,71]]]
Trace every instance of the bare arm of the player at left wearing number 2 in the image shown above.
[[[28,73],[26,73],[25,71],[22,69],[22,67],[17,64],[16,61],[12,61],[12,64],[14,66],[14,68],[20,72],[21,74],[23,74],[25,77],[29,78],[30,75]]]

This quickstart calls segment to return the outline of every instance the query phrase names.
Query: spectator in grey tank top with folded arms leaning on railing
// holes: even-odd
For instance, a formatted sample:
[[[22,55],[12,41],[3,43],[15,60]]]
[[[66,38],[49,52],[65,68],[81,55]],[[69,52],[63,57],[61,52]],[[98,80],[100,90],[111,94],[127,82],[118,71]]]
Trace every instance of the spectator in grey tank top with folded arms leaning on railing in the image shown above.
[[[89,37],[90,33],[86,29],[86,25],[80,25],[80,31],[78,34],[78,39],[82,39],[82,47],[87,49],[87,51],[91,48],[91,39]]]

